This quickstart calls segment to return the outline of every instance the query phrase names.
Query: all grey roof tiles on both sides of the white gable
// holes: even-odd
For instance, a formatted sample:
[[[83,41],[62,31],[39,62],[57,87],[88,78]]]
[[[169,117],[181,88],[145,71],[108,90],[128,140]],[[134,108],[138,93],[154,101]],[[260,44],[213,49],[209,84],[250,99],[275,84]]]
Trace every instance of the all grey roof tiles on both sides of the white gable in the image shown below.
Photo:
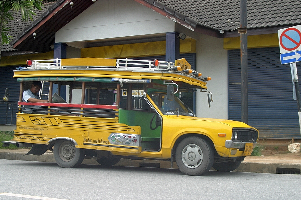
[[[205,27],[215,31],[231,31],[239,27],[239,24],[235,23],[240,21],[239,0],[135,1],[147,2],[193,27]],[[37,16],[33,17],[33,22],[30,20],[23,22],[20,15],[15,14],[14,20],[8,24],[8,27],[11,28],[9,34],[13,37],[11,44],[19,40],[30,28],[63,2],[64,0],[57,0],[54,3],[44,4],[42,10],[36,11]],[[301,24],[299,3],[299,0],[248,0],[247,27],[255,29]],[[5,44],[1,50],[12,51],[13,47]]]

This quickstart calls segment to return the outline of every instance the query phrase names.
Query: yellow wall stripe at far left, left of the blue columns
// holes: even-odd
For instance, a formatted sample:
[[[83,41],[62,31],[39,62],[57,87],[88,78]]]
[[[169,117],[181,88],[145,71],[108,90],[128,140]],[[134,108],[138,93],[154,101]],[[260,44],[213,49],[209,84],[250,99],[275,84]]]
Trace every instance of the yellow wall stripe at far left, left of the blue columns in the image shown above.
[[[26,65],[27,60],[53,59],[53,51],[1,57],[0,66]]]

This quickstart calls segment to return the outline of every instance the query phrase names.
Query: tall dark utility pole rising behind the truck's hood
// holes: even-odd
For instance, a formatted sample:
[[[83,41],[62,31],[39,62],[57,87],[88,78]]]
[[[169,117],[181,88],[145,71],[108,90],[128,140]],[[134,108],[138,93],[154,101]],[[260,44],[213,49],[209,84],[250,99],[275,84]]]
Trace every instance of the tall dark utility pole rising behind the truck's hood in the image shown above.
[[[241,121],[248,124],[247,0],[240,0],[238,33],[240,33]]]

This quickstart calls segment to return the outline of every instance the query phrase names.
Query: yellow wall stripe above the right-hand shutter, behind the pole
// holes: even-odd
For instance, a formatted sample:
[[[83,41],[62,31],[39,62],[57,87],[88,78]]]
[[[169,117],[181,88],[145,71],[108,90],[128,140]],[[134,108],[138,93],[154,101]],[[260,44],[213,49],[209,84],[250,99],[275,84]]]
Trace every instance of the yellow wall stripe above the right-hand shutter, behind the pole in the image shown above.
[[[248,36],[248,48],[263,48],[276,46],[279,46],[277,33]],[[240,49],[240,37],[224,38],[224,49]]]

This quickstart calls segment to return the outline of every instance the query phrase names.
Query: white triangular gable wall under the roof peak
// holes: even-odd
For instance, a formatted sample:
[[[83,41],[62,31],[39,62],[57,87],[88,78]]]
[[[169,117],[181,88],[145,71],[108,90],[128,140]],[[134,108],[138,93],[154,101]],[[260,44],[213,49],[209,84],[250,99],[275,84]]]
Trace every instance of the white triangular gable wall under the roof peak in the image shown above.
[[[175,22],[133,0],[98,0],[55,34],[55,42],[160,34]]]

